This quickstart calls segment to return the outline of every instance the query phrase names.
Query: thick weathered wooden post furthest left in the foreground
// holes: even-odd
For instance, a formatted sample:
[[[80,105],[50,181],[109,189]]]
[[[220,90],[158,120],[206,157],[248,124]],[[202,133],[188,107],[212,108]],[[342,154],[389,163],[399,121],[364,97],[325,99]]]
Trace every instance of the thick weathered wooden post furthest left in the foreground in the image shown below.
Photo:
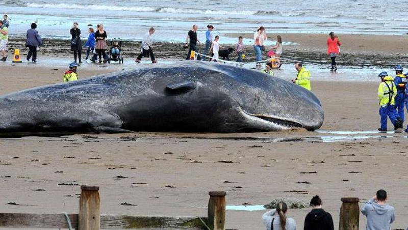
[[[99,230],[99,187],[82,185],[81,190],[78,230]]]

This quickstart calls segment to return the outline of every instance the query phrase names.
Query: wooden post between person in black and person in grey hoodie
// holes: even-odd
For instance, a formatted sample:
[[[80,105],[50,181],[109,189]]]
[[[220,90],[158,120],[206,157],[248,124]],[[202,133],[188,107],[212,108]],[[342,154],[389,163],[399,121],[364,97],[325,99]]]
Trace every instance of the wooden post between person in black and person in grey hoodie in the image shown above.
[[[359,230],[360,207],[358,197],[343,197],[340,208],[339,230]]]

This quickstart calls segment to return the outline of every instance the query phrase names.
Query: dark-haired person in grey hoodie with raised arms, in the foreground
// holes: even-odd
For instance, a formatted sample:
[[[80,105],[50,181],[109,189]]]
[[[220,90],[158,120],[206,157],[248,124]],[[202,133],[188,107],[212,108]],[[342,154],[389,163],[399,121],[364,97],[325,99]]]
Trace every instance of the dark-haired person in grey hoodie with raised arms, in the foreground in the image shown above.
[[[395,220],[394,207],[387,204],[387,192],[382,189],[364,204],[361,213],[367,217],[367,230],[389,230]]]

